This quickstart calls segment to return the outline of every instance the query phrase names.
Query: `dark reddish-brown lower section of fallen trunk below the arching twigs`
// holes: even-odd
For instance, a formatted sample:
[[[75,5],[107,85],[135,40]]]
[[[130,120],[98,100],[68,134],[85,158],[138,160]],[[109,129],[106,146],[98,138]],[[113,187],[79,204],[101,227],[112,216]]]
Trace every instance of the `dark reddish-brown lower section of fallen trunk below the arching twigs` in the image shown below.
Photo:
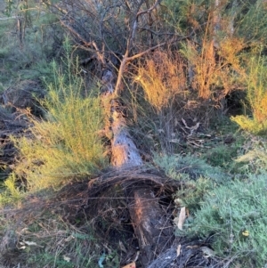
[[[174,241],[170,216],[163,211],[150,187],[134,186],[128,189],[129,213],[138,238],[141,263],[147,267]]]

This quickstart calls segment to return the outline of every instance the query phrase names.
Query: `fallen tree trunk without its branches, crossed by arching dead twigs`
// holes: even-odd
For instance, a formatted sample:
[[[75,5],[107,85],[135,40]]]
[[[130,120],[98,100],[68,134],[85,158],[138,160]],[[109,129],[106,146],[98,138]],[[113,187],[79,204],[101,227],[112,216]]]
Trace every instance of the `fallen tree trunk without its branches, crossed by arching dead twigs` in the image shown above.
[[[102,105],[108,118],[105,126],[106,136],[111,132],[111,163],[118,170],[142,166],[142,158],[127,129],[120,103],[114,93],[113,75],[110,70],[104,72]],[[139,242],[142,267],[147,267],[158,254],[170,247],[173,241],[173,226],[170,218],[155,198],[149,185],[136,181],[124,183],[128,209]]]

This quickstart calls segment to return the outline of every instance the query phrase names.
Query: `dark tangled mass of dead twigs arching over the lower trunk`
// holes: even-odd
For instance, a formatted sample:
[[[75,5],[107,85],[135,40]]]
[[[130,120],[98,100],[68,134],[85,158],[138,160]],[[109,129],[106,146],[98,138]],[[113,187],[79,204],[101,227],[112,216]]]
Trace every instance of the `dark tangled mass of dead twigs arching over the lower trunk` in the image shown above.
[[[92,248],[95,242],[87,240],[93,233],[99,245],[98,256],[93,258],[96,266],[101,252],[109,255],[117,252],[120,266],[135,261],[138,267],[145,268],[223,267],[222,260],[206,256],[203,251],[209,246],[208,241],[189,243],[174,237],[174,227],[169,223],[172,223],[174,212],[173,194],[180,186],[181,182],[167,178],[155,169],[109,170],[89,183],[88,180],[70,183],[50,199],[28,197],[20,209],[4,211],[5,221],[16,224],[3,235],[0,264],[13,267],[20,262],[25,267],[33,267],[27,266],[27,255],[20,249],[21,241],[36,241],[39,248],[31,249],[36,253],[49,248],[53,254],[57,247],[63,247],[62,252],[68,253],[77,240],[72,238],[73,233],[85,237],[82,244],[85,248],[81,250],[88,254],[88,247],[91,247],[95,255],[96,249]],[[136,193],[143,192],[145,194],[137,198]],[[153,218],[155,214],[150,212],[150,206],[157,207],[156,217],[159,212],[160,218]],[[152,232],[150,226],[148,230],[143,228],[143,221],[153,223]],[[160,222],[166,224],[166,229],[157,232]],[[38,231],[28,231],[28,226],[35,224]],[[156,246],[151,244],[155,241],[158,242]],[[69,256],[78,257],[74,252]],[[112,265],[115,264],[105,267],[114,267]]]

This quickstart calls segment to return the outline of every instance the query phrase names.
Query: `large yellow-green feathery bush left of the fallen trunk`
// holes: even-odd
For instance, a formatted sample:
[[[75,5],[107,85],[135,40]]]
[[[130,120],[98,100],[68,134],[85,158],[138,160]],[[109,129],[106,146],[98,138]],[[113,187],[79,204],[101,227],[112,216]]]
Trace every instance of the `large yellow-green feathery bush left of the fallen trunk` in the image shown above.
[[[69,76],[55,71],[55,83],[44,101],[46,119],[31,119],[32,137],[13,138],[20,157],[12,176],[26,180],[28,191],[58,187],[107,164],[98,134],[103,124],[100,99],[82,97],[83,81],[71,77],[71,71],[70,66]]]

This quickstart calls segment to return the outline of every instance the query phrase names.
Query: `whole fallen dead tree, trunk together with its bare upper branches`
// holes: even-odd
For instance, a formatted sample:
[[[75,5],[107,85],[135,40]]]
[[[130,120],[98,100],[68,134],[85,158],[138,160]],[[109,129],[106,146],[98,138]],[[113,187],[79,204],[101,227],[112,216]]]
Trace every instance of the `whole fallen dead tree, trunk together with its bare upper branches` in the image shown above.
[[[130,61],[177,38],[164,32],[158,18],[161,0],[63,0],[48,4],[81,49],[101,67],[101,99],[106,112],[104,133],[111,143],[111,164],[122,172],[142,166],[120,104],[125,69]],[[160,29],[160,30],[158,30]],[[117,64],[118,62],[118,64]],[[154,199],[149,186],[126,188],[129,212],[139,240],[141,261],[147,267],[170,246],[172,223]]]

